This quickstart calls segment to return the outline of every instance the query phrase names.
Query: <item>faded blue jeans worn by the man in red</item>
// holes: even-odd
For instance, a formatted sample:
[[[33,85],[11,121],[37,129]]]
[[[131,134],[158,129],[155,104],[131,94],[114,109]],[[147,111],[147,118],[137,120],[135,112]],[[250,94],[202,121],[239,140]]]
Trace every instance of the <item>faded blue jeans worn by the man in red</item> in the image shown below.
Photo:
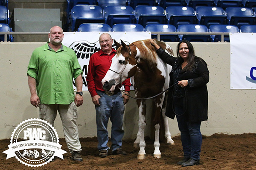
[[[111,127],[111,148],[116,150],[122,147],[122,137],[124,136],[123,130],[123,115],[125,106],[122,98],[121,91],[113,96],[108,96],[102,91],[97,91],[99,96],[99,106],[96,108],[96,124],[97,124],[97,138],[98,149],[108,150],[108,119],[112,123]]]

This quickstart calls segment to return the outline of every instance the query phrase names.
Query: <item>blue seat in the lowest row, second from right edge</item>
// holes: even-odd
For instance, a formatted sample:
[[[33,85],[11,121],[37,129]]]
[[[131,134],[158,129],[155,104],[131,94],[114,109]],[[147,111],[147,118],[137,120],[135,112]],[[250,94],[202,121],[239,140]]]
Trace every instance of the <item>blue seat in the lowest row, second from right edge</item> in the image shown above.
[[[239,28],[237,26],[231,26],[231,25],[211,25],[209,28],[209,31],[236,33],[236,32],[239,32]],[[212,35],[212,40],[214,42],[221,41],[221,35]],[[230,42],[229,35],[224,35],[224,41]]]

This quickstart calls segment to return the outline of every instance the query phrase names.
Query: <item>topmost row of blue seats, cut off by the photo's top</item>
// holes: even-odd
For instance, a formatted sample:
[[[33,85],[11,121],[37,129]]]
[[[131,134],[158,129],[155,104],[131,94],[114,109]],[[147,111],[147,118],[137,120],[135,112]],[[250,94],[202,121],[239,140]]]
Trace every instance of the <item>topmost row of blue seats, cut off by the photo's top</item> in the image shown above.
[[[85,5],[97,5],[101,8],[105,6],[131,6],[136,8],[140,5],[147,6],[161,6],[166,8],[167,6],[189,6],[196,9],[197,6],[218,6],[221,8],[227,7],[248,7],[252,8],[256,6],[255,0],[67,0],[67,12],[70,12],[73,6],[85,4]]]

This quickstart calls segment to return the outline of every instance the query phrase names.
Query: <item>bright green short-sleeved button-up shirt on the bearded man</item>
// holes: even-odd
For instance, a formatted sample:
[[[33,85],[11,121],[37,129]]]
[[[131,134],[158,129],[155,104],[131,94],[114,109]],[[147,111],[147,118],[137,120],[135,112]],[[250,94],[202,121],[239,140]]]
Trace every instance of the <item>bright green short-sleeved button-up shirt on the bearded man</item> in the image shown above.
[[[61,45],[58,51],[48,43],[36,48],[29,61],[27,75],[36,79],[41,104],[68,105],[74,101],[73,78],[82,73],[75,52]]]

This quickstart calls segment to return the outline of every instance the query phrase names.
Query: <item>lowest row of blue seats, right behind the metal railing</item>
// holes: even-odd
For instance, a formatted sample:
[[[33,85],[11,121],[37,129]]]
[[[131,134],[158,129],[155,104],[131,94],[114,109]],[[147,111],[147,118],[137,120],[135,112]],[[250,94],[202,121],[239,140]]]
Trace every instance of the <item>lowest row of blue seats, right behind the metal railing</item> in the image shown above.
[[[109,31],[151,31],[151,32],[256,32],[256,25],[244,25],[241,29],[232,25],[211,25],[209,29],[204,25],[182,24],[176,29],[175,26],[165,24],[149,24],[143,28],[140,24],[115,24],[111,28],[108,24],[84,23],[78,28],[83,32],[109,32]],[[156,34],[151,34],[152,38],[157,38]],[[218,42],[221,41],[221,35],[177,35],[160,34],[160,40],[165,42],[178,42],[180,40],[189,40],[191,42]],[[229,35],[224,35],[224,41],[230,42]]]

